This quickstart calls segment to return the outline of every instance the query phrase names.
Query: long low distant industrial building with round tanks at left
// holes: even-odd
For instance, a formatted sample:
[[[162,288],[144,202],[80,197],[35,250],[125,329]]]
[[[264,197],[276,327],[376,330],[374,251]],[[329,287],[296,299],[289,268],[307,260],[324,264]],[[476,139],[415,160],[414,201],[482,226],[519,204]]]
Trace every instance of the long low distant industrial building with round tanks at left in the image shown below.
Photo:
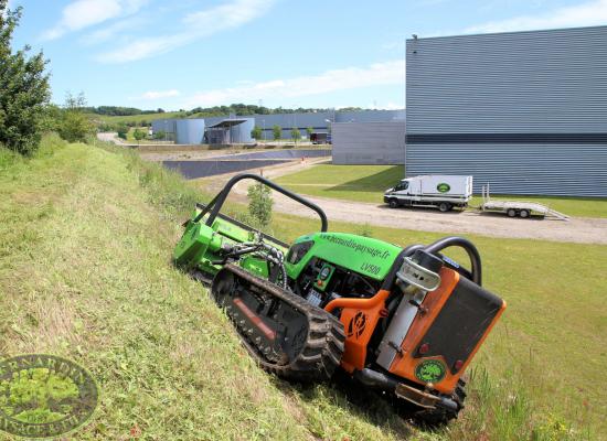
[[[152,121],[152,131],[155,133],[162,131],[167,135],[167,139],[174,140],[179,144],[252,143],[255,140],[251,137],[251,131],[255,126],[262,129],[262,140],[274,139],[274,126],[280,127],[281,139],[290,139],[294,128],[299,129],[302,138],[307,137],[307,130],[311,128],[312,135],[318,136],[319,139],[327,139],[331,126],[336,123],[348,123],[349,127],[354,128],[359,123],[402,122],[404,118],[404,110],[338,110],[246,117],[232,115],[204,119],[158,119]],[[339,149],[340,144],[338,143],[336,147]],[[373,144],[369,144],[368,148],[373,150]],[[403,150],[403,146],[401,146],[401,150]]]

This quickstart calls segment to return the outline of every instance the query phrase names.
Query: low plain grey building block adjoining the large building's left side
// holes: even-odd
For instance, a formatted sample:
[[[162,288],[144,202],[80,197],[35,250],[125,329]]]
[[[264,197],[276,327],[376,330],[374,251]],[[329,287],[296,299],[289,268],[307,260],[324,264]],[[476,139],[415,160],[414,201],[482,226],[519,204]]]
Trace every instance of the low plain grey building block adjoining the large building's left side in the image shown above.
[[[334,164],[403,164],[405,122],[337,122],[332,126]]]

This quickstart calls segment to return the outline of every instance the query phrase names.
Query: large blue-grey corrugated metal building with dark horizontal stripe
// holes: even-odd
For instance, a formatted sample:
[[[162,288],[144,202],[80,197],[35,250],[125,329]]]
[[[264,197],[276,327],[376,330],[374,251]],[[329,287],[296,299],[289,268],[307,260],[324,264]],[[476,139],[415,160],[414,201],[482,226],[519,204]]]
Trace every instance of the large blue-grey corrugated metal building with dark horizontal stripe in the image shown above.
[[[407,176],[607,196],[607,26],[407,41]]]

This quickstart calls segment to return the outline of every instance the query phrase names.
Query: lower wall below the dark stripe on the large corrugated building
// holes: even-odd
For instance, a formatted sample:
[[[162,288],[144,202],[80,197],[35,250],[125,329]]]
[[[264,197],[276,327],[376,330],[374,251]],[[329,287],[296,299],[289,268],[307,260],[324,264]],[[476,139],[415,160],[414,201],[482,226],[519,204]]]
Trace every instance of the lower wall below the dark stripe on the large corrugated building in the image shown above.
[[[607,197],[601,146],[407,144],[406,174],[475,176],[475,193]]]

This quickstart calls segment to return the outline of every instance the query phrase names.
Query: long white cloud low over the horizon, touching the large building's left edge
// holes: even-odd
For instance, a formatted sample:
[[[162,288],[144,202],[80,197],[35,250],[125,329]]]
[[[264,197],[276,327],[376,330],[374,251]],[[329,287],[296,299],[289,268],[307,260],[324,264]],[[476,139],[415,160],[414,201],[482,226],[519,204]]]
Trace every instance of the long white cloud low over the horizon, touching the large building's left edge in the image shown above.
[[[273,79],[232,88],[205,90],[188,99],[184,107],[252,103],[259,99],[271,100],[276,97],[291,98],[370,86],[403,84],[405,84],[405,62],[396,60],[366,67],[327,71],[313,76]]]

